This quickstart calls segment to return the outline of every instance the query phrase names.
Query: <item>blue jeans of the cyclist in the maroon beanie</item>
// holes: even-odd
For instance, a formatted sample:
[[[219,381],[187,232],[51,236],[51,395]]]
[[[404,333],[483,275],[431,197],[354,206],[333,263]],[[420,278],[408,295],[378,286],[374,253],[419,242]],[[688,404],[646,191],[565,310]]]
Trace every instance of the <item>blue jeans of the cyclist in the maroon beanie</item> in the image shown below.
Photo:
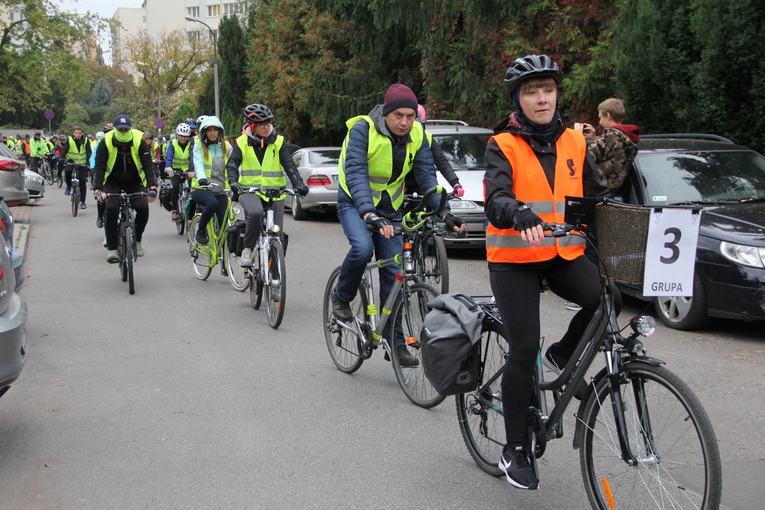
[[[369,232],[366,222],[359,216],[359,212],[353,204],[338,202],[337,217],[340,219],[340,224],[343,226],[343,232],[348,238],[351,249],[343,260],[335,293],[340,301],[350,303],[356,297],[366,265],[371,262],[372,255],[375,255],[377,260],[392,258],[403,251],[403,242],[401,236],[385,239],[378,232]],[[400,224],[400,222],[394,222],[394,224]],[[382,312],[383,305],[388,299],[393,283],[396,281],[398,269],[397,264],[379,269],[380,302],[377,304],[379,312]],[[391,321],[385,324],[384,338],[391,338],[390,325]],[[396,344],[406,345],[400,322],[396,324]]]

